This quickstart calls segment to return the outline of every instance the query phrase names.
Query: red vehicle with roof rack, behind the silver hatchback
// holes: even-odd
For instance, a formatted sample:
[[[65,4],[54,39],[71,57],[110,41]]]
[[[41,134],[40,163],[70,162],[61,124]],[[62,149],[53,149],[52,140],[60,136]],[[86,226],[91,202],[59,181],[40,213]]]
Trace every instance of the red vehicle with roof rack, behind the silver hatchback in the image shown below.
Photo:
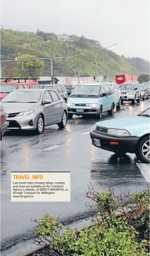
[[[41,89],[36,79],[32,78],[6,78],[0,83],[0,99],[17,89]]]

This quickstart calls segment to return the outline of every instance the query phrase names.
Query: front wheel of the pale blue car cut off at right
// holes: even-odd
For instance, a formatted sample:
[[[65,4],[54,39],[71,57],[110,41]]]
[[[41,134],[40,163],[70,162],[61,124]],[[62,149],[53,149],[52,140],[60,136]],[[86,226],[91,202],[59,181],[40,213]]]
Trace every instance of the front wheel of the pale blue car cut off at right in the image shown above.
[[[150,163],[150,136],[140,141],[135,154],[142,163]]]

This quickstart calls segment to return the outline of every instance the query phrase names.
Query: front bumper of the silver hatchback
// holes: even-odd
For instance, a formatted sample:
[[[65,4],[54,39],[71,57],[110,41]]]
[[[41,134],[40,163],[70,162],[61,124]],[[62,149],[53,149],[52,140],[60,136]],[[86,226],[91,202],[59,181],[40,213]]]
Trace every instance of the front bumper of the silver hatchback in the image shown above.
[[[35,130],[37,118],[32,113],[26,116],[23,115],[23,116],[6,118],[6,121],[9,122],[9,125],[7,126],[7,130],[13,130],[13,129]]]

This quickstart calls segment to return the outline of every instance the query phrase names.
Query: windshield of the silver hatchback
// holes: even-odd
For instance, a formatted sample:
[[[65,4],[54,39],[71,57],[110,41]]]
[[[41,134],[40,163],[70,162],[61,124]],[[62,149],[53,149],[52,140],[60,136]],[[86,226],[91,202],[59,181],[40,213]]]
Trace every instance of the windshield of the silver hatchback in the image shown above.
[[[1,99],[1,102],[23,102],[31,103],[38,102],[41,97],[41,91],[12,91],[10,94],[6,95]]]

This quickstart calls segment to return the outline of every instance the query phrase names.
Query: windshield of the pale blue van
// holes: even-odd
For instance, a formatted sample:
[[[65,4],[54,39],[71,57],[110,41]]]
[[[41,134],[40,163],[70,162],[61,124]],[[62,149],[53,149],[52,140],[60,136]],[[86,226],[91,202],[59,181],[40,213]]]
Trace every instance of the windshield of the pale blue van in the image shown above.
[[[95,85],[77,85],[72,91],[71,96],[98,96],[99,86]]]

